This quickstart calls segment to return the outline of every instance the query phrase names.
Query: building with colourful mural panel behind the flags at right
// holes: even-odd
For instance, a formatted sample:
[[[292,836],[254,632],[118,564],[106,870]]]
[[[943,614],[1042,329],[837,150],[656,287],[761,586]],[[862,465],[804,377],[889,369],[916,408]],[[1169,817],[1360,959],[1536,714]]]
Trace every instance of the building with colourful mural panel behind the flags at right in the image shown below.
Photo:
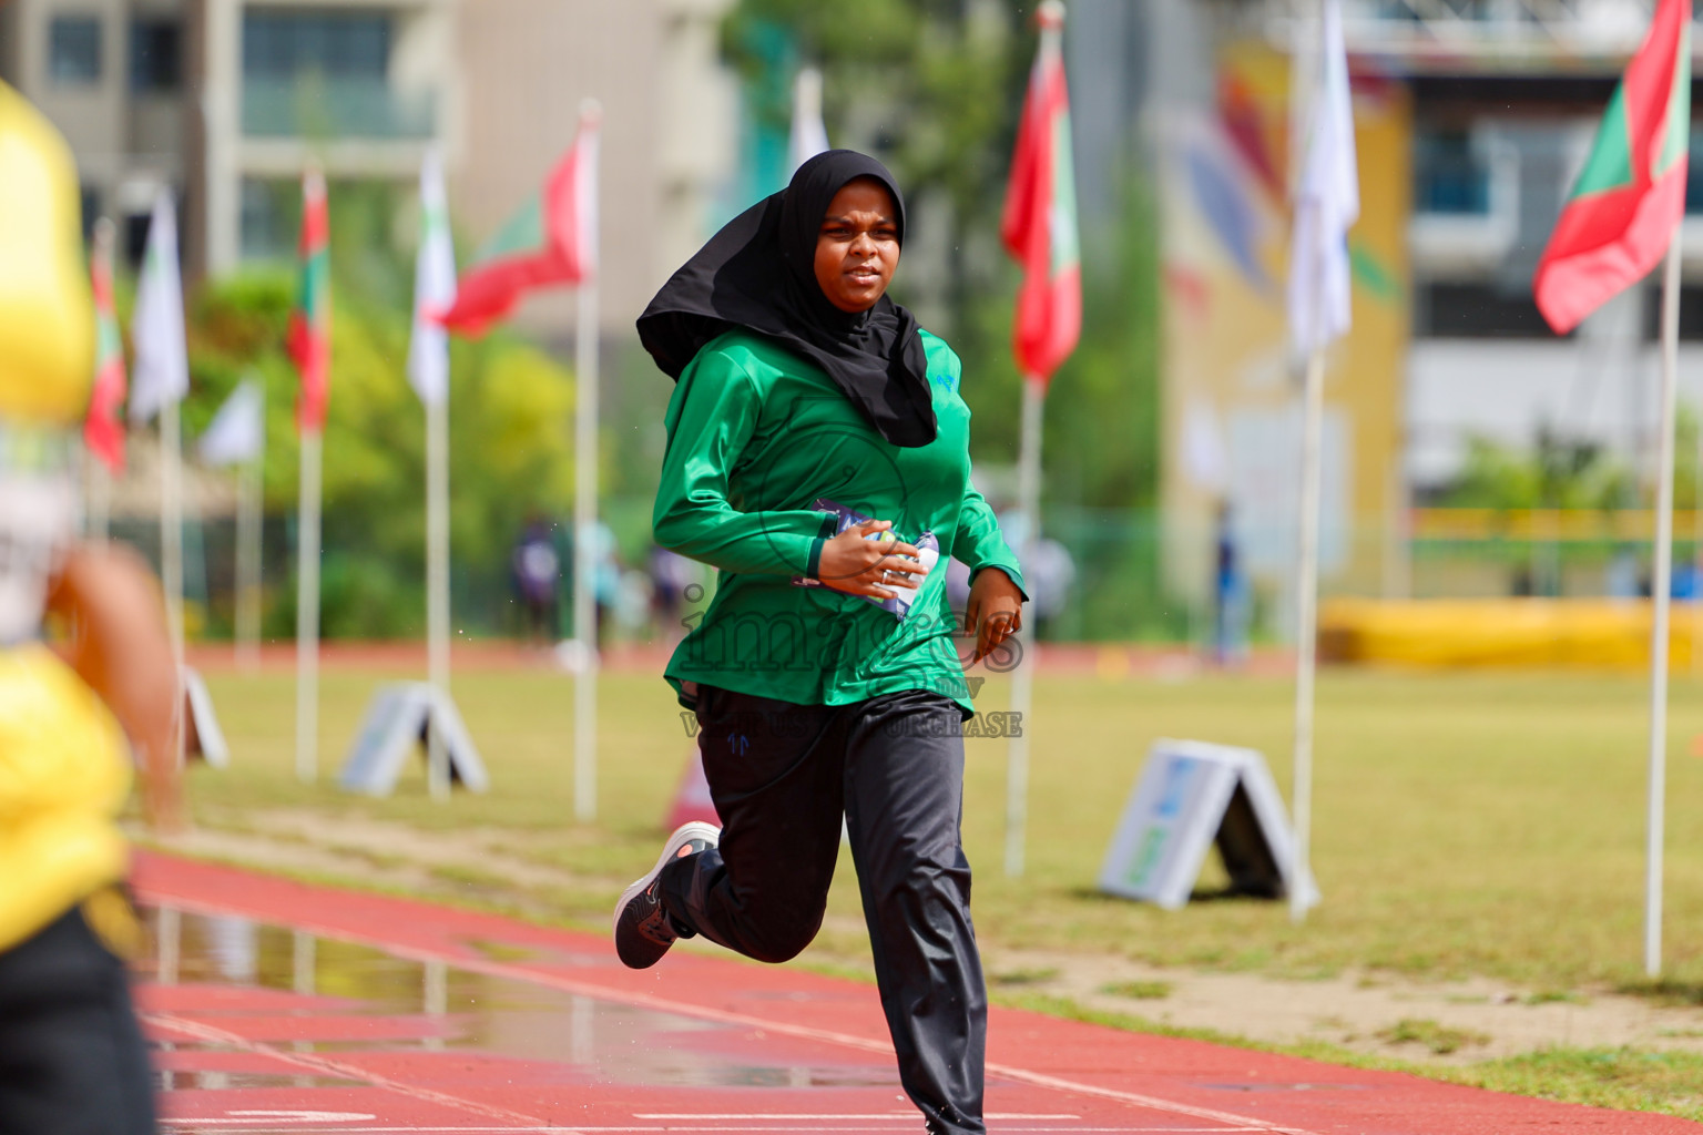
[[[1344,0],[1362,220],[1350,233],[1356,332],[1335,351],[1327,388],[1327,589],[1507,587],[1507,570],[1444,575],[1413,553],[1415,507],[1451,499],[1480,439],[1528,453],[1540,437],[1596,449],[1650,480],[1654,284],[1562,339],[1543,323],[1531,281],[1652,9],[1650,0]],[[1293,446],[1252,444],[1245,422],[1238,432],[1231,419],[1294,398],[1281,294],[1296,133],[1287,85],[1315,14],[1310,0],[1160,0],[1151,20],[1163,36],[1150,41],[1144,63],[1153,83],[1143,112],[1167,182],[1172,250],[1163,281],[1167,531],[1194,550],[1173,563],[1173,584],[1204,589],[1206,533],[1230,497],[1277,606],[1293,556]],[[1400,247],[1379,254],[1390,225]],[[1681,398],[1698,405],[1696,143],[1681,250]],[[1207,335],[1202,347],[1199,322],[1226,303],[1252,313],[1231,318],[1231,332],[1247,337],[1264,325],[1262,340],[1240,359],[1202,362],[1202,351],[1228,340]],[[1369,351],[1366,322],[1383,325],[1393,313],[1400,334]],[[1281,434],[1276,419],[1265,432]],[[1259,456],[1267,451],[1270,459]],[[1517,585],[1563,592],[1601,587],[1592,572],[1514,575]]]

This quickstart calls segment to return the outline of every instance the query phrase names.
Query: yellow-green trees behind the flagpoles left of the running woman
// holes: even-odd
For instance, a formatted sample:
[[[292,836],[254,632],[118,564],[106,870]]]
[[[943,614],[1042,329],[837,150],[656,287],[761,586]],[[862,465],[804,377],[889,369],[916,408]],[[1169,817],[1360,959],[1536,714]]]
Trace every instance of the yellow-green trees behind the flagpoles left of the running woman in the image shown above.
[[[334,291],[325,422],[322,625],[330,638],[424,626],[424,408],[405,378],[405,308]],[[298,500],[296,374],[284,354],[295,281],[237,276],[204,288],[191,315],[192,437],[244,374],[266,388],[267,512],[291,533]],[[572,504],[574,386],[536,347],[497,334],[451,347],[451,562],[458,626],[502,625],[507,553],[528,516]],[[269,556],[278,562],[276,550]],[[293,562],[290,562],[293,567]],[[293,585],[272,573],[269,625],[288,635]]]

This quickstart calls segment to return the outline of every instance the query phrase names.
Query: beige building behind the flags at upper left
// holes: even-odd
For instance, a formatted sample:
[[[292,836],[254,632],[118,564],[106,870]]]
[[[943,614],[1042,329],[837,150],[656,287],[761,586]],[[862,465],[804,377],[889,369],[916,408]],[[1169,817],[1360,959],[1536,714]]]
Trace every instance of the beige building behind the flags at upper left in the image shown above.
[[[160,189],[181,201],[191,274],[293,255],[303,167],[412,192],[444,153],[458,233],[477,247],[603,106],[605,332],[705,235],[737,155],[737,85],[719,61],[729,0],[14,0],[0,78],[66,134],[83,211],[141,255]],[[404,237],[405,243],[410,240]],[[572,305],[523,325],[572,328]]]

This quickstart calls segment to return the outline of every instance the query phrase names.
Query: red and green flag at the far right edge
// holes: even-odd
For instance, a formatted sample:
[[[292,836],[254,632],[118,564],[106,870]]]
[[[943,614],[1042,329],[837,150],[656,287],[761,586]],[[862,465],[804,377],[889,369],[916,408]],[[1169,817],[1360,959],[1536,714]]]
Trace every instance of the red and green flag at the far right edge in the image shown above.
[[[1667,252],[1686,211],[1689,134],[1691,0],[1657,0],[1538,262],[1538,310],[1557,334],[1643,279]]]

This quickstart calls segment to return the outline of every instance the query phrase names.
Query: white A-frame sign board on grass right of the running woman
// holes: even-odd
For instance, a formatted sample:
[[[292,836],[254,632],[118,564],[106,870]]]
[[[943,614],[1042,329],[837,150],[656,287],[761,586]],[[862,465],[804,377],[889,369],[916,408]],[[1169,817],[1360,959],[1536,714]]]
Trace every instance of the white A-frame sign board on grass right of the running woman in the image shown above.
[[[1156,740],[1100,866],[1100,890],[1175,910],[1218,844],[1233,893],[1281,898],[1294,885],[1294,836],[1265,757],[1199,740]],[[1313,876],[1301,898],[1318,905]]]

